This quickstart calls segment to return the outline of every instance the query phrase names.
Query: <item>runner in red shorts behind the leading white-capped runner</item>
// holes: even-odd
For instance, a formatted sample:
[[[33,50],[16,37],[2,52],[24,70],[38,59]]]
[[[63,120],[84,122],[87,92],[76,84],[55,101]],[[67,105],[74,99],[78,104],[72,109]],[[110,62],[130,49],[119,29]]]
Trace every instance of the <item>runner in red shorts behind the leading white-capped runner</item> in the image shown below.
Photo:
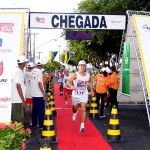
[[[67,85],[67,80],[69,78],[69,71],[64,70],[64,78],[63,78],[63,91],[64,91],[64,99],[65,105],[68,105],[68,98],[72,94],[71,88]]]

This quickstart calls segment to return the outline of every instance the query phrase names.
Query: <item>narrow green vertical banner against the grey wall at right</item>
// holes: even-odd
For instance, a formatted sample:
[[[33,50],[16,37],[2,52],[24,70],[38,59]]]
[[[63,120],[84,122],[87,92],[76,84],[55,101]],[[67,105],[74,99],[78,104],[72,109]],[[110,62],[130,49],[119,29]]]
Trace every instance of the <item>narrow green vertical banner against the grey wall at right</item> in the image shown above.
[[[124,43],[122,62],[122,94],[130,95],[130,43]]]

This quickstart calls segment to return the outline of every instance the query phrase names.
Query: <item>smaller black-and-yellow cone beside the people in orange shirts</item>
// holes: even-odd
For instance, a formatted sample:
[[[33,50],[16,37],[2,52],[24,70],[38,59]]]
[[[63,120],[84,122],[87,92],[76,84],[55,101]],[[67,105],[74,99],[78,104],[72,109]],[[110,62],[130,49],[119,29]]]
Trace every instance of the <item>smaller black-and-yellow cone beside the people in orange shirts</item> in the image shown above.
[[[92,97],[92,102],[91,102],[91,105],[90,105],[89,118],[90,119],[97,119],[97,118],[99,118],[98,107],[97,107],[96,97],[95,96]]]

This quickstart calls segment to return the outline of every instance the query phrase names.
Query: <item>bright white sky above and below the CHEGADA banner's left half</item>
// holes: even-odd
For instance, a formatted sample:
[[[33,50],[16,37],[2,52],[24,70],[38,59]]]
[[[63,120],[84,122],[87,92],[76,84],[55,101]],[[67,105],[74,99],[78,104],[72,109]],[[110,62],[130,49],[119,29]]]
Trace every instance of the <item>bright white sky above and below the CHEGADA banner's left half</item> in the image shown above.
[[[0,8],[29,8],[30,12],[73,13],[81,0],[0,0]],[[67,49],[67,41],[60,37],[62,29],[33,29],[35,35],[35,56],[47,61],[49,51]],[[57,40],[56,40],[57,39]],[[33,49],[33,35],[31,36],[31,51]],[[48,42],[49,41],[49,42]],[[56,61],[59,61],[57,54]]]

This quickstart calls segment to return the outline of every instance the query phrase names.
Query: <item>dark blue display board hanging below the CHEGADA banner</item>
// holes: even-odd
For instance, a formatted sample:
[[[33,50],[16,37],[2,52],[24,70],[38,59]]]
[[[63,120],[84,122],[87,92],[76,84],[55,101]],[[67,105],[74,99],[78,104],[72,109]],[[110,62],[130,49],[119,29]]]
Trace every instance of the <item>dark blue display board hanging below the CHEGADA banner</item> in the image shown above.
[[[66,31],[66,40],[91,40],[92,33],[84,31]]]

